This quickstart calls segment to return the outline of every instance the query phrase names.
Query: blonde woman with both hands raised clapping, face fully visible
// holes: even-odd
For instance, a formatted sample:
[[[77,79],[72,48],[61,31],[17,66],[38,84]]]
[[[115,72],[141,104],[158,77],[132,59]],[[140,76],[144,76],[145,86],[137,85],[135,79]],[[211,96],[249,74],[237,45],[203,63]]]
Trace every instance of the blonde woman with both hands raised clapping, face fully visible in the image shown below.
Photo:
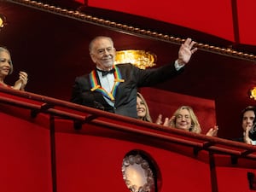
[[[156,123],[162,124],[162,116],[160,115],[156,120]],[[177,108],[176,112],[173,113],[172,118],[166,118],[163,124],[164,126],[175,127],[177,129],[182,129],[184,131],[190,131],[195,133],[201,133],[201,126],[198,119],[189,106],[182,106]],[[209,131],[207,131],[207,136],[217,136],[218,126],[214,126]]]

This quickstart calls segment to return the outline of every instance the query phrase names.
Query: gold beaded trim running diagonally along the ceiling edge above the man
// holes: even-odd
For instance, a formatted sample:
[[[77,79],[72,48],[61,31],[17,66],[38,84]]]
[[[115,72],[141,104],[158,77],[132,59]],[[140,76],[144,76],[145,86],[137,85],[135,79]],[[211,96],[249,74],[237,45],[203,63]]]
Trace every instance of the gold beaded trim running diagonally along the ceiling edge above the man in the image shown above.
[[[116,31],[130,32],[137,36],[142,36],[142,37],[146,37],[146,38],[154,38],[156,40],[161,40],[161,41],[165,41],[165,42],[172,43],[172,44],[183,44],[183,42],[185,41],[185,39],[183,39],[183,38],[176,38],[176,37],[173,37],[170,35],[165,35],[165,34],[158,33],[158,32],[144,30],[144,29],[137,28],[134,26],[123,25],[123,24],[113,22],[110,20],[104,20],[104,19],[97,18],[97,17],[91,16],[91,15],[85,15],[84,13],[81,13],[77,10],[61,9],[61,8],[55,7],[53,5],[49,5],[46,3],[39,3],[37,1],[31,1],[31,0],[5,0],[5,1],[10,2],[10,3],[18,3],[21,5],[29,6],[34,9],[48,11],[53,14],[70,17],[75,20],[81,20],[84,22],[93,23],[98,26],[112,28],[113,30],[116,30]],[[247,60],[247,61],[256,61],[256,55],[247,54],[247,53],[244,53],[241,51],[237,51],[236,49],[220,48],[218,46],[213,46],[210,44],[200,44],[200,43],[195,44],[195,46],[198,49],[212,52],[212,53],[215,53],[218,55],[226,55],[226,56],[235,57],[235,58]]]

